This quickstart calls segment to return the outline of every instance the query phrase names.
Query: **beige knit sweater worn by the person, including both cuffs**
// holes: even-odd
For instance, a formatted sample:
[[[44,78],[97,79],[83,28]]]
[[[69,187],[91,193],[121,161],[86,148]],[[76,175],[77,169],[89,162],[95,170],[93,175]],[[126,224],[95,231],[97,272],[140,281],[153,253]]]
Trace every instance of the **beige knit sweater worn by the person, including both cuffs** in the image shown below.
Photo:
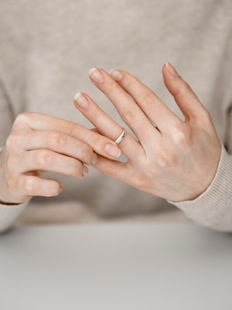
[[[0,230],[16,218],[15,223],[23,225],[148,217],[188,217],[232,230],[231,16],[231,0],[2,0],[1,146],[23,111],[92,127],[74,107],[78,91],[89,94],[122,125],[113,104],[89,81],[91,67],[131,72],[183,118],[162,80],[161,67],[170,61],[211,112],[225,148],[214,180],[194,201],[174,207],[92,167],[82,180],[48,173],[63,184],[61,194],[33,198],[28,207],[0,205]]]

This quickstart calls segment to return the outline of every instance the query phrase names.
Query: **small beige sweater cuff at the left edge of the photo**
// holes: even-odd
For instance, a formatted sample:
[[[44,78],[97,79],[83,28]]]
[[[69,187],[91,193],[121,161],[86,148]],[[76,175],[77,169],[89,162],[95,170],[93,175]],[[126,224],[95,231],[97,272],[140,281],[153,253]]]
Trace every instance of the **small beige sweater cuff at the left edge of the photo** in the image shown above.
[[[27,207],[30,199],[25,203],[18,205],[0,204],[0,233],[7,230],[19,216],[19,214]]]

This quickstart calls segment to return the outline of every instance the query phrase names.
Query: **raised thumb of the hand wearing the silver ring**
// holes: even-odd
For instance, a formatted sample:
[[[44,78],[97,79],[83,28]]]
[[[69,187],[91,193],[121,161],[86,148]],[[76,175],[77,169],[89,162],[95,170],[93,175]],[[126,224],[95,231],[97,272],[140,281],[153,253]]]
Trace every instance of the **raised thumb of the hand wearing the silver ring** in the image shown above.
[[[176,72],[174,67],[166,62],[162,68],[164,84],[171,95],[173,95],[176,103],[183,112],[187,122],[205,120],[208,116],[208,111],[200,103],[197,96]]]

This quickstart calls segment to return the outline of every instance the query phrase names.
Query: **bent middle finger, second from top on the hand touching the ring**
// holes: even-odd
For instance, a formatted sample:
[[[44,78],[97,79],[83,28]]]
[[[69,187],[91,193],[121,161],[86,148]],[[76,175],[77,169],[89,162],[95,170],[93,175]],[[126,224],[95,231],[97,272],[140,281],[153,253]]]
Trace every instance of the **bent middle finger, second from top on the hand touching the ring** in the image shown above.
[[[31,131],[24,136],[19,136],[17,143],[25,151],[47,149],[77,158],[86,164],[97,161],[97,155],[89,145],[61,131]]]

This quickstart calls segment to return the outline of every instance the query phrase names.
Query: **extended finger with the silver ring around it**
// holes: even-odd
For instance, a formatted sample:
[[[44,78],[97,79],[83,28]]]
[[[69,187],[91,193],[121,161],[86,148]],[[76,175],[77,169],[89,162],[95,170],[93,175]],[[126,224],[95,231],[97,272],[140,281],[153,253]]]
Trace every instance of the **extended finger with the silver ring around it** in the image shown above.
[[[122,132],[122,127],[105,113],[88,95],[77,93],[74,98],[74,104],[102,135],[116,141]],[[126,133],[124,139],[118,146],[122,153],[130,159],[135,156],[137,157],[139,154],[144,154],[140,143],[129,133]]]

